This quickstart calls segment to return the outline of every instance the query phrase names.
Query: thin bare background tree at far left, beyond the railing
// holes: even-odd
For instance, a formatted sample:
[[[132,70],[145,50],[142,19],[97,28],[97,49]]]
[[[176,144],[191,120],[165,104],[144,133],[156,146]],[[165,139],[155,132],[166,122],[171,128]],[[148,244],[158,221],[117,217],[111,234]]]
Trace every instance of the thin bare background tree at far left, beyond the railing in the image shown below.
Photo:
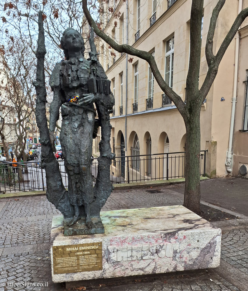
[[[32,79],[36,69],[35,57],[30,53],[24,38],[10,36],[7,45],[1,49],[3,74],[6,78],[4,92],[11,108],[15,132],[15,155],[19,162],[25,161],[27,123],[34,112],[34,87]],[[1,135],[1,134],[0,134]]]

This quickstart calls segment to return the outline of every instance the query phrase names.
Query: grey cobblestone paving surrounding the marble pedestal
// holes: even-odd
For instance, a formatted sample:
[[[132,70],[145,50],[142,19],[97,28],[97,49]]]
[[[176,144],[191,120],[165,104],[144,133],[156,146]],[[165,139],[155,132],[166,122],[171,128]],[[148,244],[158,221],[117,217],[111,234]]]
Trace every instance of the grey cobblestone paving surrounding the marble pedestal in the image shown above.
[[[147,193],[148,188],[115,190],[103,210],[182,204],[183,196],[180,191],[175,191],[175,187],[158,188],[161,191],[155,194]],[[65,290],[64,283],[54,284],[51,281],[49,238],[52,216],[57,214],[59,212],[45,195],[0,200],[0,291]],[[246,288],[244,282],[248,282],[248,226],[241,225],[240,221],[242,219],[235,220],[235,225],[230,227],[231,220],[214,223],[216,226],[221,223],[219,226],[223,227],[221,266],[216,269],[164,274],[156,278],[122,278],[116,283],[103,280],[91,285],[88,282],[86,290],[247,291],[248,283]],[[11,286],[21,282],[26,282],[26,285],[48,282],[48,287]]]

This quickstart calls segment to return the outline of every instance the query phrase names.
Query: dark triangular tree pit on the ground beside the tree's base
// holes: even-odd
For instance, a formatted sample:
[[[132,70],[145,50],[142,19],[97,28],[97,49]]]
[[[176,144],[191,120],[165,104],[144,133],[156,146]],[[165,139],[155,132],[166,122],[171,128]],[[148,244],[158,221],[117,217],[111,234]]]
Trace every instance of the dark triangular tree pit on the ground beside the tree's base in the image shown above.
[[[229,220],[229,219],[239,219],[240,217],[229,214],[227,212],[221,211],[219,209],[215,209],[209,207],[207,205],[200,205],[201,214],[200,216],[207,221],[221,221],[221,220]]]

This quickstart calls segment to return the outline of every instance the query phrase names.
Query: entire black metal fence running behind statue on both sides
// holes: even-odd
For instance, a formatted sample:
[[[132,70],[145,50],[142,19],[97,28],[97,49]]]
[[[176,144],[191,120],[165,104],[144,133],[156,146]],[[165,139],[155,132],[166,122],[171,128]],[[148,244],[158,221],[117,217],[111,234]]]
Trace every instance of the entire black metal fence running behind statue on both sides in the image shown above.
[[[149,145],[149,144],[148,144]],[[148,146],[147,145],[147,146]],[[205,177],[206,152],[200,154],[200,175]],[[115,157],[110,166],[110,181],[112,184],[132,183],[151,180],[169,180],[185,178],[185,152],[170,152],[161,154],[136,155]],[[68,176],[64,168],[64,160],[58,160],[61,178],[64,186],[68,186]],[[0,191],[45,191],[45,170],[41,168],[40,161],[15,162],[0,161]],[[97,158],[92,160],[92,181],[96,181],[98,172]]]

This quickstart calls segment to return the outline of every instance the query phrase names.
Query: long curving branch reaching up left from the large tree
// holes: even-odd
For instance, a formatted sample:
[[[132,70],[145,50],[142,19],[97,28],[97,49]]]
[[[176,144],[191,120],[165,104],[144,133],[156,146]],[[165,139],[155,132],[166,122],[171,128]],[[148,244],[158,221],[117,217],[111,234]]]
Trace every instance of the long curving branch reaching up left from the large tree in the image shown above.
[[[187,109],[182,101],[182,98],[177,95],[169,86],[166,84],[164,81],[163,77],[161,76],[159,69],[157,67],[156,61],[152,54],[142,51],[139,49],[135,49],[130,45],[118,45],[112,38],[107,36],[103,31],[101,31],[98,26],[96,25],[94,19],[89,13],[89,10],[87,8],[87,1],[83,0],[82,1],[82,8],[85,14],[85,17],[87,21],[89,22],[89,25],[94,29],[94,32],[101,37],[105,42],[107,42],[113,49],[115,49],[117,52],[124,52],[126,54],[131,54],[133,56],[137,56],[139,58],[142,58],[143,60],[147,61],[150,65],[150,68],[152,70],[152,73],[156,79],[156,81],[159,84],[159,87],[163,90],[164,93],[166,93],[170,99],[175,103],[178,111],[182,115],[183,118],[187,117]]]

